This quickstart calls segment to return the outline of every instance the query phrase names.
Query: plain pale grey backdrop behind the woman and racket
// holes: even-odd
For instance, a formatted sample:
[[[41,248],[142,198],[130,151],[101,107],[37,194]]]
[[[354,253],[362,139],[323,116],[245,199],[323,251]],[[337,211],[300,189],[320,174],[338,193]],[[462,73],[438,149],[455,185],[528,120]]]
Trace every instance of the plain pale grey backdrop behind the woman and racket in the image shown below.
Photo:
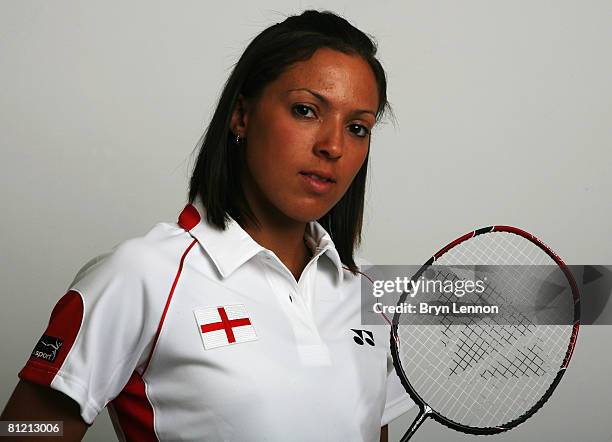
[[[374,132],[361,255],[418,264],[503,223],[612,263],[609,1],[3,1],[2,407],[76,271],[176,219],[248,41],[308,7],[376,36],[389,76],[397,124]],[[612,440],[611,337],[583,328],[551,403],[488,440]],[[476,438],[428,421],[413,440]],[[113,439],[106,414],[85,438]]]

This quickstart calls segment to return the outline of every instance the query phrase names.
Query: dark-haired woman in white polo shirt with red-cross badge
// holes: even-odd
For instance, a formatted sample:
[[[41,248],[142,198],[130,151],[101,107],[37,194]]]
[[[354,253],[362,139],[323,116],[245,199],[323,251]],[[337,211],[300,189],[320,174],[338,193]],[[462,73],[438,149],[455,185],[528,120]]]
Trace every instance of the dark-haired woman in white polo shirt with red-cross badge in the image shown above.
[[[178,223],[79,272],[2,419],[80,440],[108,405],[128,440],[377,440],[412,402],[388,329],[360,324],[353,250],[387,107],[375,52],[326,12],[259,34]]]

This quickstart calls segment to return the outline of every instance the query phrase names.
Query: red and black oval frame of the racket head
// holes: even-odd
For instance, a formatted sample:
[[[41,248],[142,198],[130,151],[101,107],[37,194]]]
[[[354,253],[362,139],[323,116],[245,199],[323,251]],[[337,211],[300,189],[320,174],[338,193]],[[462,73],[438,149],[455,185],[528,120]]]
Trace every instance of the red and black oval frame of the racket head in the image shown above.
[[[544,244],[534,235],[522,229],[519,229],[517,227],[504,226],[504,225],[483,227],[483,228],[474,230],[472,232],[466,233],[463,236],[460,236],[456,240],[450,242],[448,245],[440,249],[423,266],[421,266],[418,272],[412,277],[412,280],[417,280],[419,277],[421,277],[421,275],[428,268],[430,268],[434,263],[440,260],[440,258],[442,258],[446,253],[448,253],[450,250],[454,249],[455,247],[460,246],[466,241],[472,238],[475,238],[479,235],[486,235],[486,234],[490,234],[493,232],[518,235],[519,237],[524,238],[530,241],[533,245],[537,246],[542,252],[548,255],[548,257],[550,257],[556,265],[559,266],[559,268],[562,270],[563,274],[567,278],[567,282],[571,289],[573,303],[574,303],[573,325],[571,326],[571,335],[568,339],[567,350],[563,357],[562,363],[559,366],[556,376],[554,377],[552,382],[549,384],[548,388],[545,390],[545,392],[542,394],[539,400],[537,400],[531,407],[529,407],[525,412],[523,412],[518,417],[511,419],[508,422],[501,423],[500,425],[481,427],[481,426],[466,425],[464,423],[457,422],[456,420],[453,420],[445,416],[443,413],[440,413],[438,410],[432,407],[431,404],[428,404],[421,397],[417,389],[410,383],[408,379],[408,375],[405,372],[404,367],[402,366],[402,363],[401,363],[401,354],[400,354],[401,344],[400,344],[400,339],[399,339],[399,327],[401,327],[399,319],[400,319],[401,313],[396,312],[394,314],[392,324],[391,324],[391,333],[390,333],[391,354],[393,356],[393,364],[395,366],[396,373],[398,377],[400,378],[400,381],[402,385],[404,386],[404,388],[406,389],[407,393],[410,395],[412,400],[420,407],[421,413],[426,413],[428,416],[432,417],[434,420],[454,430],[461,431],[463,433],[478,434],[478,435],[496,434],[496,433],[501,433],[504,431],[508,431],[512,428],[515,428],[516,426],[525,422],[527,419],[533,416],[546,403],[546,401],[551,397],[555,388],[558,386],[559,382],[561,381],[561,378],[563,377],[565,373],[567,366],[569,365],[572,354],[574,352],[574,348],[575,348],[576,341],[578,338],[578,331],[580,328],[580,293],[579,293],[578,285],[576,284],[573,274],[571,273],[569,268],[566,266],[566,264],[563,262],[563,260],[561,260],[561,258],[555,252],[553,252],[546,244]],[[474,264],[474,263],[465,263],[465,264]],[[398,301],[398,305],[403,303],[406,297],[407,297],[406,293],[402,294],[402,296],[400,296],[400,299]],[[418,327],[418,326],[413,326],[413,327]]]

